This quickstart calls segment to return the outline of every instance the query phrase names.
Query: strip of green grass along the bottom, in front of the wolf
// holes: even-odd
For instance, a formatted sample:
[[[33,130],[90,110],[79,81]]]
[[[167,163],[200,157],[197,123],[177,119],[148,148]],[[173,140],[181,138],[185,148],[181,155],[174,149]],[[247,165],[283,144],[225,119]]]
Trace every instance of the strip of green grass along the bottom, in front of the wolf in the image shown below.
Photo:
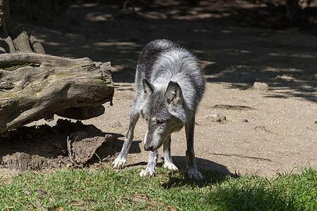
[[[159,167],[62,169],[0,179],[0,210],[317,210],[317,173],[311,167],[266,177],[202,171],[205,181]]]

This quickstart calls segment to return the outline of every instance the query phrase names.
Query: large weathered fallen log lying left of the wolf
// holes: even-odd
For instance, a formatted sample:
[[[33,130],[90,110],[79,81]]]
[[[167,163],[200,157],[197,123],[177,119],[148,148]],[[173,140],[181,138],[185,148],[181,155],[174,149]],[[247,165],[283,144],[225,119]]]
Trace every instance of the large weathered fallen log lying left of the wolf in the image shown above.
[[[54,114],[85,120],[112,101],[110,62],[38,53],[0,55],[0,133]]]

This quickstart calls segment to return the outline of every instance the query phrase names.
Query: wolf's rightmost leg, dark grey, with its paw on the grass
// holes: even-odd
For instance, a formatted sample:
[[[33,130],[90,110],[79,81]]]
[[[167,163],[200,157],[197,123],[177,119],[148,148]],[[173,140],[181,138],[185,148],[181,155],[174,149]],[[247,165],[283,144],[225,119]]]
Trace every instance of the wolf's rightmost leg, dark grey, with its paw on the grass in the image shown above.
[[[186,139],[187,139],[187,151],[186,151],[186,162],[187,162],[187,174],[189,179],[204,179],[202,174],[198,172],[196,166],[196,158],[194,153],[194,124],[195,116],[187,122],[185,125]]]

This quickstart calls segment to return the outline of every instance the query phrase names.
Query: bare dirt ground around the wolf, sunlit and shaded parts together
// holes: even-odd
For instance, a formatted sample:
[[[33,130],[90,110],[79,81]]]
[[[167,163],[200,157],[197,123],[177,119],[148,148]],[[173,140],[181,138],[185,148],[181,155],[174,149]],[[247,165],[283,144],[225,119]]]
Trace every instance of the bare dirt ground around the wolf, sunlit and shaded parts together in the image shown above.
[[[206,72],[194,136],[198,168],[271,176],[302,165],[317,167],[317,37],[302,27],[285,27],[280,16],[273,16],[277,11],[263,4],[199,2],[156,1],[151,6],[136,5],[136,13],[101,3],[78,3],[70,6],[61,25],[22,25],[42,41],[46,53],[111,61],[116,86],[113,106],[106,103],[104,115],[82,121],[115,137],[105,164],[118,155],[128,129],[142,46],[166,38],[194,52]],[[265,82],[268,91],[254,89],[254,82]],[[54,127],[57,119],[29,126]],[[128,155],[130,167],[147,164],[145,132],[140,119]],[[41,143],[32,143],[37,145]],[[172,135],[171,148],[175,165],[185,167],[184,129]],[[2,155],[15,152],[19,151]],[[162,150],[159,163],[161,155]],[[0,174],[10,169],[16,170],[2,167]]]

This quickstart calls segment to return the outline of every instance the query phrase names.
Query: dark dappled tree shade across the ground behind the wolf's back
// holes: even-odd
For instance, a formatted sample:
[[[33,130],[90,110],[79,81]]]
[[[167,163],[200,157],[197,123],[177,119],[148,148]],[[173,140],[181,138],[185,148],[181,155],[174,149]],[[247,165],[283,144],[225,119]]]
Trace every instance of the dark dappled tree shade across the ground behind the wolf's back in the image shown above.
[[[167,38],[196,53],[207,82],[228,83],[228,89],[266,82],[279,90],[267,97],[317,101],[317,39],[294,28],[317,29],[317,21],[289,23],[285,6],[197,2],[136,1],[132,13],[92,1],[70,6],[64,25],[24,26],[43,41],[47,53],[110,60],[115,83],[134,82],[142,46]]]

